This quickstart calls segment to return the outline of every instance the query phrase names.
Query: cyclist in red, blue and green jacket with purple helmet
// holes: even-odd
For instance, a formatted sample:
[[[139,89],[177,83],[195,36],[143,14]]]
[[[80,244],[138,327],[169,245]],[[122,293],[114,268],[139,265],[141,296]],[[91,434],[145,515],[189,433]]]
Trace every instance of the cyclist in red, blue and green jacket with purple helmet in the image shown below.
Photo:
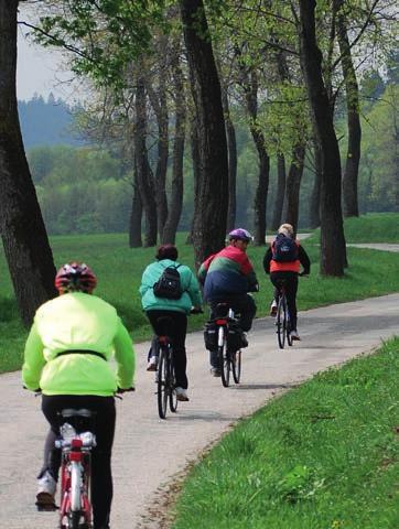
[[[198,279],[204,285],[204,298],[211,305],[211,317],[218,303],[227,303],[240,314],[239,325],[244,333],[252,326],[257,307],[248,292],[258,292],[258,280],[247,256],[248,244],[252,236],[244,228],[228,234],[229,245],[218,253],[209,256],[199,267]],[[247,346],[242,335],[242,347]],[[214,376],[219,376],[216,352],[211,352],[211,366]]]

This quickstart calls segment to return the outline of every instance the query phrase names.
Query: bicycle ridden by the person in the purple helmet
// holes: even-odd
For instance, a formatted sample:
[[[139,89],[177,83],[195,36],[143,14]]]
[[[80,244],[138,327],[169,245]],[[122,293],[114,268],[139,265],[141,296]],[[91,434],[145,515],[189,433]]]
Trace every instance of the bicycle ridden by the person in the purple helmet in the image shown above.
[[[226,313],[227,310],[227,313]],[[222,384],[227,388],[230,384],[230,371],[234,381],[239,384],[241,377],[241,348],[237,347],[236,338],[241,339],[238,335],[238,325],[236,315],[227,303],[218,303],[216,313],[224,314],[215,319],[216,336],[217,336],[217,357],[222,368]],[[238,336],[237,336],[238,335]],[[235,342],[235,343],[234,343]]]

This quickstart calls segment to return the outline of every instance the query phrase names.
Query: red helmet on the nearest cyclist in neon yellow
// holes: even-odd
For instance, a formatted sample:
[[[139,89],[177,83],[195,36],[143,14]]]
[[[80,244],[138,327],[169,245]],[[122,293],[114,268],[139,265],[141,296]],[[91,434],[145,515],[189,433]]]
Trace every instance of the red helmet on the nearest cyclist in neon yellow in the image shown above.
[[[60,294],[86,292],[90,294],[97,284],[93,270],[84,262],[67,262],[55,276],[55,288]]]

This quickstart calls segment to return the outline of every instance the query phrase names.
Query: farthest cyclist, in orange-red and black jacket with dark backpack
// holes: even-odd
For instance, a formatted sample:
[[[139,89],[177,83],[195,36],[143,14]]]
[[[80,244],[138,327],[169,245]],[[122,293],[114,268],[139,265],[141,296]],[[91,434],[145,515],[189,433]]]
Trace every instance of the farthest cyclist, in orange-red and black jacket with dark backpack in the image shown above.
[[[283,279],[285,281],[287,303],[291,319],[290,335],[292,339],[301,339],[296,330],[298,276],[301,264],[303,267],[301,276],[309,276],[311,261],[299,240],[295,240],[293,237],[294,233],[291,224],[282,224],[276,240],[266,251],[263,268],[266,273],[270,273],[270,281],[274,285],[274,299],[270,307],[270,315],[276,316],[277,314],[278,284]]]

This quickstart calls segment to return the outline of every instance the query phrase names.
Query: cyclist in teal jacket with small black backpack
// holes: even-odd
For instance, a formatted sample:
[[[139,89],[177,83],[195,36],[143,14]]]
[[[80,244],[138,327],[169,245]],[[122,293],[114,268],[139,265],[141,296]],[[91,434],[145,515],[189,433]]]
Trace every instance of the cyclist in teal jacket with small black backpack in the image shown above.
[[[164,332],[162,325],[158,322],[159,319],[168,316],[172,320],[169,334],[173,341],[176,397],[177,400],[187,401],[188,380],[186,376],[185,335],[187,332],[187,315],[191,313],[191,310],[201,310],[199,287],[191,269],[177,262],[177,248],[175,246],[160,246],[155,259],[157,261],[149,264],[142,274],[140,285],[141,303],[157,335]],[[160,296],[154,293],[154,284],[169,267],[175,268],[180,277],[181,295],[176,299]],[[168,295],[168,292],[164,295]],[[149,358],[147,370],[152,371],[155,369],[157,355],[152,355]]]

